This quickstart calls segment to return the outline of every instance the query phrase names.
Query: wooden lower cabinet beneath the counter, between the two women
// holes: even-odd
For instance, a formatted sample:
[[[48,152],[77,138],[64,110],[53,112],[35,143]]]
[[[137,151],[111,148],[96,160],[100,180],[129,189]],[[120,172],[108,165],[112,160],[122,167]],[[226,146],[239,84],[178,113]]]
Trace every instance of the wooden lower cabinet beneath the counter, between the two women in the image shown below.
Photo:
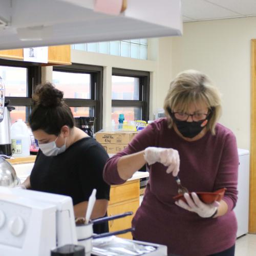
[[[127,181],[122,185],[111,186],[108,216],[122,214],[125,211],[137,211],[139,207],[140,180]],[[118,231],[132,226],[134,214],[121,219],[109,221],[110,231]],[[132,233],[118,235],[120,238],[132,239]]]

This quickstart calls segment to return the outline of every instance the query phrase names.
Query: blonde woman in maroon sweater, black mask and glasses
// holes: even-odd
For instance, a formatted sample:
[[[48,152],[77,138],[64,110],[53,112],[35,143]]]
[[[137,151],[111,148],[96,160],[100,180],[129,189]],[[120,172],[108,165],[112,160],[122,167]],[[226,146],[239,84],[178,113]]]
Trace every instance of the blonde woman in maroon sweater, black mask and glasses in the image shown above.
[[[148,125],[108,160],[104,180],[121,184],[148,165],[150,180],[132,222],[134,239],[164,244],[170,255],[234,255],[238,151],[233,133],[218,123],[220,93],[206,75],[184,71],[170,83],[164,110],[166,118]],[[191,192],[225,187],[226,193],[212,204],[196,193],[175,201],[178,174]]]

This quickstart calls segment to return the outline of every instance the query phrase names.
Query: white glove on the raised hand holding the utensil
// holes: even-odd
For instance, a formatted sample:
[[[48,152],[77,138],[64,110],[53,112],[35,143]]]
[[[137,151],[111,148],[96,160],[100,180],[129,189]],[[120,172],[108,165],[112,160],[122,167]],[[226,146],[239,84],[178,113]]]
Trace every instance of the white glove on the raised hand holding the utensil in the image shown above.
[[[150,165],[159,162],[167,166],[167,174],[173,173],[173,176],[177,176],[179,173],[180,156],[178,151],[173,148],[147,147],[144,151],[144,159]]]

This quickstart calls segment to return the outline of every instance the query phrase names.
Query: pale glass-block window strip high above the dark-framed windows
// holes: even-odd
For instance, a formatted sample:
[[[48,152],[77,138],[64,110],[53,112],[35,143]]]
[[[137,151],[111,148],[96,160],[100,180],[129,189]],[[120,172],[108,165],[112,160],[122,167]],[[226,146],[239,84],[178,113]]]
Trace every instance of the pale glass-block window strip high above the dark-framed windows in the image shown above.
[[[147,59],[147,39],[90,42],[87,44],[72,45],[72,49],[137,59]]]

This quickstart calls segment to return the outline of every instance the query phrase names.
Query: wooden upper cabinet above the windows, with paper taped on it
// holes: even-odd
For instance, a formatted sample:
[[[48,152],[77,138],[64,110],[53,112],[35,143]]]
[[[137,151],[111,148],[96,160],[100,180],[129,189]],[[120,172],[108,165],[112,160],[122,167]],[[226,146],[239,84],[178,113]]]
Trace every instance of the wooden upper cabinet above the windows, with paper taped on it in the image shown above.
[[[48,63],[42,63],[42,66],[54,65],[71,65],[71,46],[49,46],[48,47]],[[8,58],[13,60],[23,60],[23,49],[3,50],[0,51],[0,58]]]

